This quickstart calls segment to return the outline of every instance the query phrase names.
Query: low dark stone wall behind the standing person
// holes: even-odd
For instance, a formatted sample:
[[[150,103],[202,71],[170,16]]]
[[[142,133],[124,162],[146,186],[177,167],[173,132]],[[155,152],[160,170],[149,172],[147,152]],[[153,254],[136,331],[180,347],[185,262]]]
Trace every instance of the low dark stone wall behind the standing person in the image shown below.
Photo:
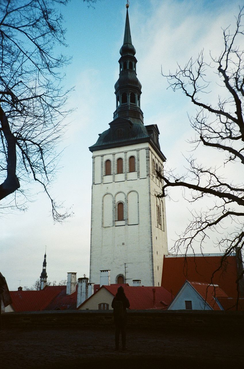
[[[111,310],[4,313],[1,318],[3,329],[113,327],[113,313]],[[150,330],[243,331],[244,314],[241,311],[130,310],[127,313],[127,326],[128,329]]]

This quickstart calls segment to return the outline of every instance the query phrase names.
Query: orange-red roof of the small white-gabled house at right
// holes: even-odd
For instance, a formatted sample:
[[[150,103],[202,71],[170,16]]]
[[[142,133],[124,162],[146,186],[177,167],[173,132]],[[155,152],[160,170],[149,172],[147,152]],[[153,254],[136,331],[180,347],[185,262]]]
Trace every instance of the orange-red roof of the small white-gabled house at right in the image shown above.
[[[189,282],[189,281],[188,281]],[[192,287],[202,296],[204,301],[212,307],[213,310],[221,310],[215,298],[227,297],[227,294],[219,288],[217,284],[201,283],[201,282],[189,282]]]

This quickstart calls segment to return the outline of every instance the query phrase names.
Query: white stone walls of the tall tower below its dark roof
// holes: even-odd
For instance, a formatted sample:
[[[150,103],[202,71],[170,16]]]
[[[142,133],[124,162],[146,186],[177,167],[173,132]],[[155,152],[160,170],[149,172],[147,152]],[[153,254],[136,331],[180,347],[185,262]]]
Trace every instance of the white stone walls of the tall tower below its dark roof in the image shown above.
[[[135,157],[135,172],[129,172],[130,156]],[[119,174],[118,158],[123,159]],[[105,175],[106,160],[112,163],[111,175]],[[161,285],[167,254],[165,199],[156,197],[162,183],[153,168],[163,170],[163,162],[148,142],[93,152],[91,282],[99,283],[100,270],[110,269],[111,283],[117,283],[125,276],[126,262],[132,263],[127,278]],[[117,220],[119,202],[124,204],[124,220]]]

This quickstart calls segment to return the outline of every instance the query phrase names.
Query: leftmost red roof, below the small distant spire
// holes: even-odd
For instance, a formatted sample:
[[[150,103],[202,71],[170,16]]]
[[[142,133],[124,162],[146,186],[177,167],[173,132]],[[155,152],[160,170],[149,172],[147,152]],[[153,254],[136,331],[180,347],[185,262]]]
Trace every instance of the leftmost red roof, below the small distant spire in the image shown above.
[[[13,309],[14,311],[43,310],[60,293],[63,287],[47,286],[40,291],[10,291]]]

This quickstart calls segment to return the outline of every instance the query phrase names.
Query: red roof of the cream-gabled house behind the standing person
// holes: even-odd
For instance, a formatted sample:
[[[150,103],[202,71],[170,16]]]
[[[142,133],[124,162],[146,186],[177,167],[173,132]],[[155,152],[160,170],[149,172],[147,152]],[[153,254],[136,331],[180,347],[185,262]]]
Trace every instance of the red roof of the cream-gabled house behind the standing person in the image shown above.
[[[110,284],[110,286],[102,286],[100,288],[105,288],[115,296],[119,286],[123,286],[125,296],[130,301],[131,310],[166,309],[174,298],[164,287],[134,287],[128,284]],[[100,288],[96,290],[95,293],[97,293]],[[153,290],[155,292],[155,301],[153,301]],[[92,296],[94,296],[94,294]],[[91,299],[92,296],[89,297],[89,299]]]

